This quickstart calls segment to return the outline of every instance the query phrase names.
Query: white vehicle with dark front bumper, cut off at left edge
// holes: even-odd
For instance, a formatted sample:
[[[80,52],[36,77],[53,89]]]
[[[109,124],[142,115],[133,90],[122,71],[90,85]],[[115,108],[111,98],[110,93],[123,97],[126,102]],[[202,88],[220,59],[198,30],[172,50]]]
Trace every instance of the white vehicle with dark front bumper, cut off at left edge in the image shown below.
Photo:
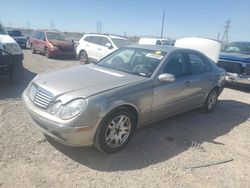
[[[8,74],[12,81],[21,81],[23,53],[0,23],[0,74]]]

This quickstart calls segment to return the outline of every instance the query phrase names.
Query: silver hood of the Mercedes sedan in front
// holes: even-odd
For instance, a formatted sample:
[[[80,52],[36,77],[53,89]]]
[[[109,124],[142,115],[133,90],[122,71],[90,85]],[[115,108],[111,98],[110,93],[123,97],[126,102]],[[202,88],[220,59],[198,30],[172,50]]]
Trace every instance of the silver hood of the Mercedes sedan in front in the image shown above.
[[[91,64],[42,73],[33,82],[57,97],[77,91],[80,93],[79,97],[87,98],[144,79],[146,78]]]

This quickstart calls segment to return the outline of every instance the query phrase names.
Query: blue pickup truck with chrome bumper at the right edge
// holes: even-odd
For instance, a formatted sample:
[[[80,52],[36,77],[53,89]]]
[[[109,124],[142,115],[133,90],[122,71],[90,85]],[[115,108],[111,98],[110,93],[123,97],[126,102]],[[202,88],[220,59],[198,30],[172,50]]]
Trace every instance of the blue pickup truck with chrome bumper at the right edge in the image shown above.
[[[226,80],[250,85],[250,42],[232,42],[222,51],[218,66],[227,71]]]

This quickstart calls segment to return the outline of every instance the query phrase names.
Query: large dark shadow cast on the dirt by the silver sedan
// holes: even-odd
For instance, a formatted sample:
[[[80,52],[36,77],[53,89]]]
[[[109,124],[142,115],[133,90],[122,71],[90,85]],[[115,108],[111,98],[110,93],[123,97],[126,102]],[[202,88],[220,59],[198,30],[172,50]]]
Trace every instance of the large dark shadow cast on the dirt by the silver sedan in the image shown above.
[[[68,147],[52,139],[48,142],[79,164],[98,171],[135,170],[166,161],[188,150],[193,142],[217,143],[217,137],[247,121],[249,114],[249,104],[220,100],[213,113],[191,111],[141,128],[123,150],[110,155],[94,147]],[[227,143],[220,144],[223,147]]]

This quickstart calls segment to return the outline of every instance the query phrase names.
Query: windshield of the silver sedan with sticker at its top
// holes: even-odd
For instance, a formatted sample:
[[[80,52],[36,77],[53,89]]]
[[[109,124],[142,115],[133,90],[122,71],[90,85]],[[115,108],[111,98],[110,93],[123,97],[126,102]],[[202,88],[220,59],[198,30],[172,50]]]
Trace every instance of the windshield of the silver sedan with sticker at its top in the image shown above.
[[[120,48],[97,63],[129,74],[150,77],[166,52],[140,48]]]

